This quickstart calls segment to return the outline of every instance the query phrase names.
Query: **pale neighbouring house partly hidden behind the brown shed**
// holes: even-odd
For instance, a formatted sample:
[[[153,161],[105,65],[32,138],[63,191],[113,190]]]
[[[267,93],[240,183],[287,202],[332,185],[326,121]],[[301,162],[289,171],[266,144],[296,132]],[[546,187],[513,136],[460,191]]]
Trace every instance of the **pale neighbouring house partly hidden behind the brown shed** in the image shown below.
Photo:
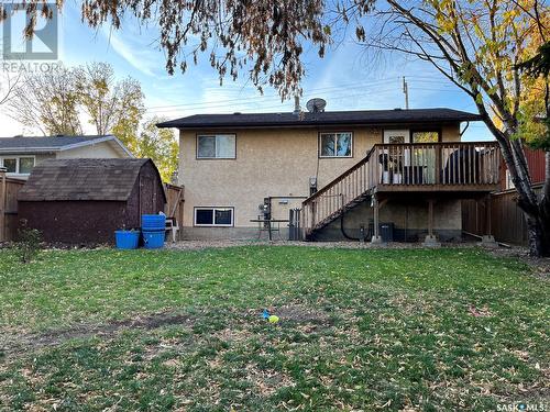
[[[130,151],[114,136],[0,137],[0,167],[9,177],[25,179],[45,159],[131,158]]]

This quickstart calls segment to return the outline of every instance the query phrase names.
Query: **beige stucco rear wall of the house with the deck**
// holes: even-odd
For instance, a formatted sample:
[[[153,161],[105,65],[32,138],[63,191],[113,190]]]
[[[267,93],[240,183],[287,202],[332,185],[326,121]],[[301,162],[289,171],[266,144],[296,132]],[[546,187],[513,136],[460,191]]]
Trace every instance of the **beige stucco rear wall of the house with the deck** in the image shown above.
[[[331,131],[353,133],[352,157],[319,158],[319,133]],[[212,131],[182,131],[178,183],[185,186],[184,238],[257,236],[257,223],[250,220],[257,219],[264,198],[274,198],[273,218],[288,219],[288,210],[309,196],[310,177],[318,176],[318,188],[322,188],[382,143],[383,131],[346,126],[217,131],[237,135],[235,159],[197,159],[197,134]],[[441,126],[441,140],[460,141],[459,125]],[[234,208],[234,227],[194,227],[197,207]]]

